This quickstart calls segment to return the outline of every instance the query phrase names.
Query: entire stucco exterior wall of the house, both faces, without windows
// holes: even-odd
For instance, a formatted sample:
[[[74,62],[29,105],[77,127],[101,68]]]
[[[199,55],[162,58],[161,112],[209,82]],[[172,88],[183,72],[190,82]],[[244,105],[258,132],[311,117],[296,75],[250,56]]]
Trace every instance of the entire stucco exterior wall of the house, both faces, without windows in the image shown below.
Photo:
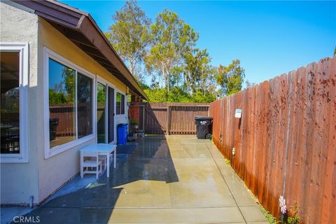
[[[43,202],[66,181],[79,172],[79,148],[92,144],[96,139],[70,148],[62,153],[45,158],[44,88],[45,48],[68,59],[73,64],[103,78],[116,90],[127,93],[125,84],[94,61],[85,52],[63,36],[32,10],[16,3],[0,2],[1,42],[29,44],[29,90],[28,90],[28,159],[25,163],[1,163],[1,204],[29,204]],[[95,97],[94,97],[95,100]],[[125,95],[125,104],[128,97]],[[127,123],[128,106],[125,115],[116,116],[116,125]],[[95,125],[95,124],[94,124]],[[116,139],[115,130],[115,139]]]

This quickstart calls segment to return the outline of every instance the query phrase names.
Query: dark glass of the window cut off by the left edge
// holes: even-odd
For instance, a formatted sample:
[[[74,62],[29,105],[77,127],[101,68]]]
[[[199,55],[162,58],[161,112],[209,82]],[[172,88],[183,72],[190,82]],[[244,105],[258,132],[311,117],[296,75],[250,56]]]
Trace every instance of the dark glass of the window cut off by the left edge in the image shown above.
[[[20,52],[0,52],[1,153],[20,153]]]

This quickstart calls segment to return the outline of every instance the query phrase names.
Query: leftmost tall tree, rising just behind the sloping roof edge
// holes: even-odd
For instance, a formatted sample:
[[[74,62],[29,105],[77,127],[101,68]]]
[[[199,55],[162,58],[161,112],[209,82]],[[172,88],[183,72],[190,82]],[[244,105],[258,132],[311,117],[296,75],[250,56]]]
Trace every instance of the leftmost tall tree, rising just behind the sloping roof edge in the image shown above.
[[[106,37],[137,80],[142,80],[141,64],[146,57],[150,41],[151,20],[137,5],[137,1],[126,1],[120,11],[113,15],[114,24]]]

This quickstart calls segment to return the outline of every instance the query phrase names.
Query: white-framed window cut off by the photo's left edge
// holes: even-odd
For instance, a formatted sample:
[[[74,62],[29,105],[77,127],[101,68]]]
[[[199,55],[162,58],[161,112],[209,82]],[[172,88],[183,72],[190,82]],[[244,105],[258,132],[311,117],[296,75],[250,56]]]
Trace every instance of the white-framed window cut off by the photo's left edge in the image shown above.
[[[1,162],[28,162],[28,45],[1,43]]]

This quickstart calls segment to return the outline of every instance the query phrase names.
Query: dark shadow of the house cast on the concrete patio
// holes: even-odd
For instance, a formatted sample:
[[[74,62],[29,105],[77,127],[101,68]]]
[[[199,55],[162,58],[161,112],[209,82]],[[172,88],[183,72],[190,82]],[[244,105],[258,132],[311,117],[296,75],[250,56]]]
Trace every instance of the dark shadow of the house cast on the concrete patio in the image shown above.
[[[92,175],[76,177],[77,181],[92,181],[85,188],[41,204],[26,217],[39,216],[40,223],[108,223],[123,185],[139,180],[179,181],[164,135],[139,138],[132,144],[137,146],[134,153],[119,157],[116,169],[111,165],[109,179],[106,172],[97,181]]]

